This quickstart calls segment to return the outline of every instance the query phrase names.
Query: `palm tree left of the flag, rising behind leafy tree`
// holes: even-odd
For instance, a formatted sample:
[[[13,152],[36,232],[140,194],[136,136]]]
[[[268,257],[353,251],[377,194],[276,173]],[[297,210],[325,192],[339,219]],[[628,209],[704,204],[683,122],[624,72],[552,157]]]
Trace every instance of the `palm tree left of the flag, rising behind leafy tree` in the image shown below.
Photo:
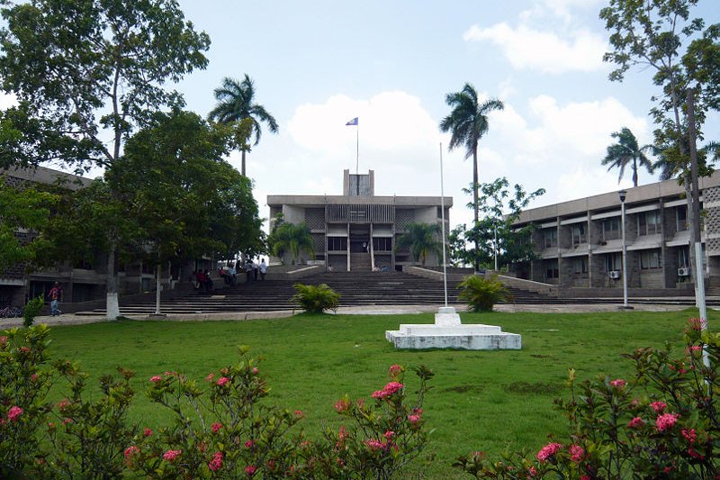
[[[249,151],[250,146],[247,140],[255,136],[255,143],[260,141],[262,130],[260,122],[266,122],[267,128],[273,133],[277,133],[279,127],[275,122],[275,117],[267,113],[265,107],[260,104],[254,104],[255,101],[255,85],[250,77],[238,82],[238,80],[230,77],[222,79],[222,86],[215,88],[215,99],[218,104],[208,114],[210,120],[219,123],[238,123],[238,136],[242,139],[238,140],[239,149],[242,152],[242,175],[245,176],[245,152]],[[248,119],[250,125],[243,125],[242,121]]]

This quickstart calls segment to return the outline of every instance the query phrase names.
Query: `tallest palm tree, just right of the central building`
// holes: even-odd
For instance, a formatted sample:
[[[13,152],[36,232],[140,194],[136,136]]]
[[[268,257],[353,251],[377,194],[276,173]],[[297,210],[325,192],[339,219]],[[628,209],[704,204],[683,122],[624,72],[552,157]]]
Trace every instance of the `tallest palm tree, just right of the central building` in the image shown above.
[[[446,95],[446,104],[453,108],[442,122],[440,130],[452,131],[449,149],[455,149],[461,145],[465,148],[465,158],[473,157],[473,214],[475,225],[478,223],[478,142],[488,132],[490,124],[488,114],[493,110],[502,110],[505,104],[497,99],[478,102],[478,94],[475,88],[466,83],[460,92]],[[478,249],[477,244],[475,249]],[[475,261],[475,270],[478,269],[478,262]]]

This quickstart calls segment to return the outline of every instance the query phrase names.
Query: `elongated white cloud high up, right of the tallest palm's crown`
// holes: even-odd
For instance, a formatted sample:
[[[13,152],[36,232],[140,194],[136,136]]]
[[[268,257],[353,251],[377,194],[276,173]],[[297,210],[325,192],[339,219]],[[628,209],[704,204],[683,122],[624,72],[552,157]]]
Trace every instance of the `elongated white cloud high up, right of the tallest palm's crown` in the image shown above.
[[[514,68],[553,74],[600,70],[604,68],[602,56],[607,51],[606,41],[587,30],[568,32],[562,38],[554,32],[541,32],[525,24],[512,28],[505,22],[489,28],[473,25],[463,38],[498,45]]]

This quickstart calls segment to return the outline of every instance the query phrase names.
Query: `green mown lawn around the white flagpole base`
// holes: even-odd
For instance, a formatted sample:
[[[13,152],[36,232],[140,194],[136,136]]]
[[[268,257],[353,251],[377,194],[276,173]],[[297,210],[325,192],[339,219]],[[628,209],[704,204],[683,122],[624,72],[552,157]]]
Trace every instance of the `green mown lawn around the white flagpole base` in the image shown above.
[[[719,316],[710,312],[710,322]],[[491,323],[520,333],[521,351],[398,351],[384,331],[400,323],[432,323],[419,315],[299,315],[248,322],[112,322],[52,331],[50,354],[81,362],[94,378],[129,367],[138,392],[134,421],[150,427],[165,412],[150,405],[144,389],[150,376],[166,370],[202,379],[234,362],[238,345],[248,345],[273,391],[269,402],[306,414],[311,435],[338,425],[333,404],[342,394],[369,398],[386,382],[387,367],[425,364],[436,376],[426,402],[435,455],[423,475],[461,477],[450,464],[458,455],[506,448],[536,450],[550,433],[563,435],[566,421],[553,399],[566,394],[567,370],[579,378],[631,374],[621,354],[639,347],[680,344],[685,312],[463,313],[464,323]],[[410,388],[417,377],[410,378]],[[96,382],[91,385],[97,385]]]

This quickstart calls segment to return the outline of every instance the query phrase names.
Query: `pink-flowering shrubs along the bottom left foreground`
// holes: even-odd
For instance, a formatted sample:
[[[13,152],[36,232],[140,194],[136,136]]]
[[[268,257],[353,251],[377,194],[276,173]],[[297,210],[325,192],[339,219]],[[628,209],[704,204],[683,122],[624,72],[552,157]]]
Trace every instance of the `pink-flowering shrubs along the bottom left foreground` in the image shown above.
[[[302,411],[263,403],[269,388],[241,348],[237,364],[204,380],[174,371],[150,376],[148,397],[173,419],[153,431],[127,422],[132,372],[103,376],[101,394],[87,400],[87,376],[75,364],[49,365],[48,333],[43,325],[0,333],[0,478],[386,479],[427,440],[422,404],[433,374],[426,367],[416,369],[411,403],[405,369],[393,365],[373,400],[345,396],[335,404],[347,426],[312,441],[291,430]],[[49,389],[63,385],[69,394],[48,403]]]

